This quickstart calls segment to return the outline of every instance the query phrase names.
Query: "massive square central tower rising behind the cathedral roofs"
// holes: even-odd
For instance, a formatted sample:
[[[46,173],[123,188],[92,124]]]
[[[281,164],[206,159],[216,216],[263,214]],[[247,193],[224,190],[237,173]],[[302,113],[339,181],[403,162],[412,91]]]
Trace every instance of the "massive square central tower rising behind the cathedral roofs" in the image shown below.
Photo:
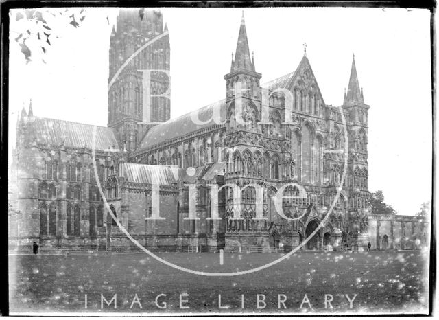
[[[123,9],[110,36],[108,126],[121,148],[136,150],[146,131],[171,113],[169,34],[156,10]]]

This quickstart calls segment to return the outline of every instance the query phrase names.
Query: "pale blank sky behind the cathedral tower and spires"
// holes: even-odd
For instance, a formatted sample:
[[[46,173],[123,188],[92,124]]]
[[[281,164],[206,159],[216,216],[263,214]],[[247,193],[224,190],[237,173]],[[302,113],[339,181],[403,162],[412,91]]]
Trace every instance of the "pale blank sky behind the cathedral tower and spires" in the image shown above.
[[[159,10],[171,43],[171,117],[224,99],[242,9]],[[16,11],[11,12],[10,152],[16,117],[31,98],[36,116],[106,126],[109,37],[117,9],[86,8],[84,13],[77,28],[45,14],[54,32],[51,46],[43,54],[29,39],[32,61],[27,63],[14,38],[36,26],[16,21]],[[383,190],[399,214],[416,214],[431,199],[429,11],[245,8],[244,16],[261,83],[296,70],[306,42],[324,102],[340,106],[355,53],[359,84],[370,105],[369,190]]]

